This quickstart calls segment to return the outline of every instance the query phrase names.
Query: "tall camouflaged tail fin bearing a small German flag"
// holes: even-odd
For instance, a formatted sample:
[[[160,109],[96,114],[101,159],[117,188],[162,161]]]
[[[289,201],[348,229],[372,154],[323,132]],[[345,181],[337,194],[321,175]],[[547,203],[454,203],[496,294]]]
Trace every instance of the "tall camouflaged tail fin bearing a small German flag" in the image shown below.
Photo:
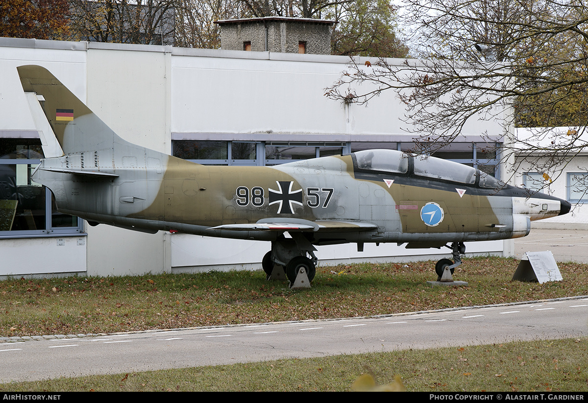
[[[49,126],[65,155],[112,149],[115,142],[122,140],[49,70],[35,65],[18,66],[17,69],[22,88],[25,92],[36,93]],[[38,108],[31,105],[32,112],[35,109]],[[35,123],[39,128],[37,120],[35,119]],[[46,125],[45,128],[48,131]],[[45,133],[45,136],[48,135],[49,133]],[[59,156],[61,152],[56,146],[47,148],[45,150],[44,144],[46,157]]]

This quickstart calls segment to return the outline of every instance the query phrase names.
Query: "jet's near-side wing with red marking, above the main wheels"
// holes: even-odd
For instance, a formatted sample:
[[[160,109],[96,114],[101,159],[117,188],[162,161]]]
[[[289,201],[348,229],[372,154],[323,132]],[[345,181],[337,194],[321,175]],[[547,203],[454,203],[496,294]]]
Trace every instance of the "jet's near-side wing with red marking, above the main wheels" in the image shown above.
[[[353,232],[376,229],[372,223],[361,221],[318,220],[308,221],[300,219],[263,219],[250,224],[225,224],[209,230],[233,231],[300,231],[300,232]]]

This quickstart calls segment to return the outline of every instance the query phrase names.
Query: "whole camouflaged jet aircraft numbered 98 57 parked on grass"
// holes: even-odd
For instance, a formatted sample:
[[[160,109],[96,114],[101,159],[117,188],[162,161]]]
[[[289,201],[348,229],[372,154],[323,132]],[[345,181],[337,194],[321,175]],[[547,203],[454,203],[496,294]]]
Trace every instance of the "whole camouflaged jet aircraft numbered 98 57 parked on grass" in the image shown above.
[[[33,179],[59,211],[91,225],[269,241],[263,269],[282,266],[292,283],[300,269],[314,277],[315,246],[342,243],[450,245],[441,276],[460,264],[464,242],[523,237],[530,221],[570,210],[473,167],[393,150],[203,166],[126,142],[45,68],[18,73],[45,154]]]

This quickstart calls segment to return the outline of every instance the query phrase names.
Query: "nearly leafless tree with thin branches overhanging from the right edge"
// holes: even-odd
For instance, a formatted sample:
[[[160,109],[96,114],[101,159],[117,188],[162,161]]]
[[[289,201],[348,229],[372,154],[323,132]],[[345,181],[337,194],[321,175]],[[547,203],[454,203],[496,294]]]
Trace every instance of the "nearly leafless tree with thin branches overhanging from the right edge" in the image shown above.
[[[396,91],[407,127],[429,149],[455,140],[470,119],[499,119],[502,155],[547,177],[588,146],[584,0],[405,0],[403,10],[419,60],[353,59],[326,96],[366,103]],[[569,127],[517,135],[523,125]]]

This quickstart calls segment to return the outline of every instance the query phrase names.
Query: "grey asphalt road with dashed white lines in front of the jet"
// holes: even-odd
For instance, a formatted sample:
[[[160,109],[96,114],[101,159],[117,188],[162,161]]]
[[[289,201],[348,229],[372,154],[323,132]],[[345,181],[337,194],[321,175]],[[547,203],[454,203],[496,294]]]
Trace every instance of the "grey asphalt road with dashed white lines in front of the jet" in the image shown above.
[[[373,318],[21,340],[0,344],[0,383],[587,335],[588,297],[582,297]]]

